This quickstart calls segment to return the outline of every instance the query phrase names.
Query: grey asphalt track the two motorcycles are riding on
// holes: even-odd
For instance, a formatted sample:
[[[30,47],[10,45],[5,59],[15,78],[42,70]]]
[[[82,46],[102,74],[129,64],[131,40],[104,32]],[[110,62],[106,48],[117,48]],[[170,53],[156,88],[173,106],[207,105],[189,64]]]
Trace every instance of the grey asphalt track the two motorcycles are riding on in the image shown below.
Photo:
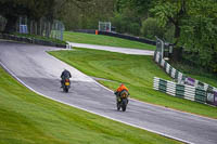
[[[49,55],[51,47],[0,40],[0,64],[25,86],[43,96],[113,120],[145,129],[186,143],[217,144],[217,120],[130,100],[125,113],[117,112],[112,91],[92,78]],[[60,89],[66,68],[72,89]]]

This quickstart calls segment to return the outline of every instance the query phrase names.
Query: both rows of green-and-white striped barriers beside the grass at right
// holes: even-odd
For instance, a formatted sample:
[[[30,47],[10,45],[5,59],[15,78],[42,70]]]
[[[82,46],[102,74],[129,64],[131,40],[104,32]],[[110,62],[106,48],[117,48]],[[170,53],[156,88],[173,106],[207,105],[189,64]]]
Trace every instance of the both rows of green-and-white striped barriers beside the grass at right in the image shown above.
[[[154,89],[166,93],[195,101],[199,103],[208,103],[217,106],[217,88],[207,83],[201,82],[196,79],[190,78],[182,73],[171,67],[163,57],[162,49],[164,42],[157,38],[156,50],[154,52],[154,61],[171,77],[177,83],[173,81],[165,81],[159,78],[154,78]],[[164,82],[163,82],[164,81]]]

